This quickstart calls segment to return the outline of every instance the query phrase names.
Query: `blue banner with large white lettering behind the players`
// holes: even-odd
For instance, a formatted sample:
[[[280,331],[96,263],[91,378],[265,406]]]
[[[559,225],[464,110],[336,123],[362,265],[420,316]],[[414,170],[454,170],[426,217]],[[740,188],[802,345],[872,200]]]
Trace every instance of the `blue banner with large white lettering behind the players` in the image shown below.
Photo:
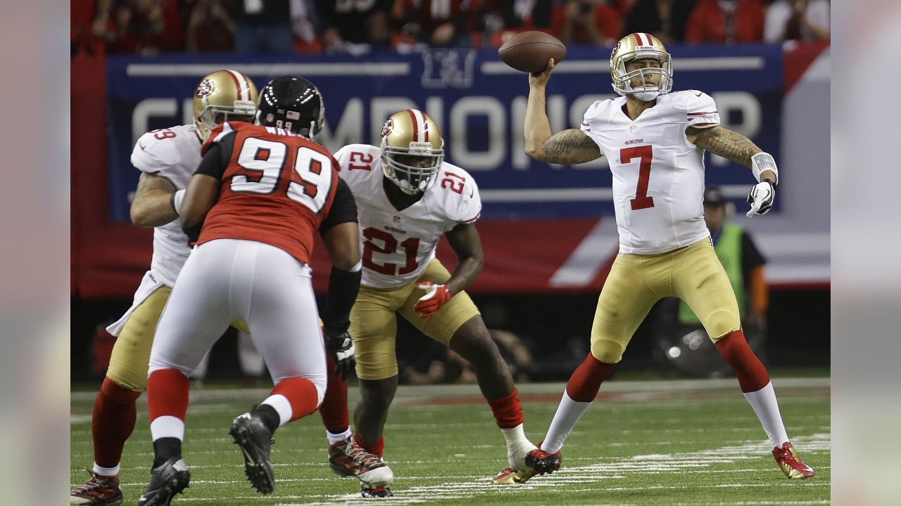
[[[674,90],[712,95],[724,126],[779,159],[783,96],[779,46],[674,46]],[[588,105],[614,96],[607,48],[569,48],[547,89],[553,131],[578,128]],[[429,50],[365,56],[179,55],[111,57],[107,68],[110,215],[129,220],[139,172],[129,158],[144,132],[193,122],[197,82],[220,68],[248,74],[257,86],[283,75],[308,78],[323,92],[326,148],[378,144],[391,113],[423,109],[441,126],[448,161],[478,181],[487,218],[591,217],[613,212],[603,158],[548,166],[523,152],[528,82],[494,50]],[[706,155],[707,183],[724,185],[736,202],[750,189],[749,169]]]

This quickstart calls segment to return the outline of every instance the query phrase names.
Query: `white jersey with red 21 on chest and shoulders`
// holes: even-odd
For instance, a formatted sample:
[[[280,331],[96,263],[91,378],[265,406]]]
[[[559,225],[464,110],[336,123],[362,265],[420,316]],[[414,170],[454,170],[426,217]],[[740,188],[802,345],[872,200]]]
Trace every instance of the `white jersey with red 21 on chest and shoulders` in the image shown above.
[[[361,285],[396,288],[423,272],[435,258],[438,239],[459,223],[478,220],[482,211],[476,181],[460,167],[441,164],[423,198],[397,211],[382,187],[381,152],[375,146],[350,144],[335,153],[339,175],[350,186],[363,257]],[[393,183],[391,183],[393,184]]]

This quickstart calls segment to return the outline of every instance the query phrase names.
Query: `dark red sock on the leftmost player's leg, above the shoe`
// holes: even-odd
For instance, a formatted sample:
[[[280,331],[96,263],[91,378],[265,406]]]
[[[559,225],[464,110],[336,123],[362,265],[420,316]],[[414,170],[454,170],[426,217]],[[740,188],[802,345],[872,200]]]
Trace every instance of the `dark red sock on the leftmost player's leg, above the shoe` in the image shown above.
[[[141,396],[104,378],[94,400],[91,433],[94,435],[94,462],[101,467],[115,467],[122,461],[125,440],[132,435],[137,415],[134,402]]]

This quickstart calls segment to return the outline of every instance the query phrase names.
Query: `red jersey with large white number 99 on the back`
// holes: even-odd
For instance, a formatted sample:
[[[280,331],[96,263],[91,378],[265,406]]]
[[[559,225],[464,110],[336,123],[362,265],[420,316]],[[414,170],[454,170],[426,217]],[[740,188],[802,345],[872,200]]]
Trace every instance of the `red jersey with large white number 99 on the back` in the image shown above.
[[[196,174],[222,186],[196,243],[256,240],[308,263],[314,231],[331,212],[340,182],[328,150],[285,129],[225,122],[201,153]]]

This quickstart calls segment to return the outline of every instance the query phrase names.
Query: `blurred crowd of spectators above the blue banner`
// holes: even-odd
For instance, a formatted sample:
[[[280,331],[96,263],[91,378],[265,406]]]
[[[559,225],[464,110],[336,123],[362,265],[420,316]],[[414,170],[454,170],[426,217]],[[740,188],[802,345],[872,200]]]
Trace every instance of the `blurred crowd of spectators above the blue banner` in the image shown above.
[[[359,54],[497,48],[527,30],[610,47],[829,41],[829,0],[78,0],[72,51]]]

